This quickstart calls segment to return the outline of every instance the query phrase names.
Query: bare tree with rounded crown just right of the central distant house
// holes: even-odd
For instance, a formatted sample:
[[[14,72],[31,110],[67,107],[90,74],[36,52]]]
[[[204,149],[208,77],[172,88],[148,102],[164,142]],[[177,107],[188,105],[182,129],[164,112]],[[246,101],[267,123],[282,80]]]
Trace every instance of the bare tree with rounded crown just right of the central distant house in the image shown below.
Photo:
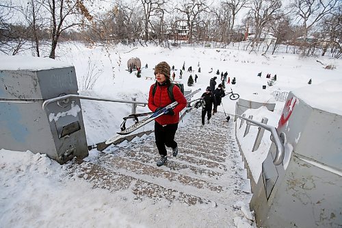
[[[202,20],[200,14],[202,12],[209,12],[206,0],[185,0],[180,3],[176,10],[185,14],[187,27],[189,27],[189,43],[192,43],[194,36],[194,27]]]

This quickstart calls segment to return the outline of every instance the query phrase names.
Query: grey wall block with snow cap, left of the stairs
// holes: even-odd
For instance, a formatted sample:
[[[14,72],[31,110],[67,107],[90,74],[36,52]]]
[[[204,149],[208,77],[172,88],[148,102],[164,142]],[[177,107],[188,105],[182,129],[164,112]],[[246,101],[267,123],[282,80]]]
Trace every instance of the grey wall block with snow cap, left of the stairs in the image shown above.
[[[30,61],[36,64],[34,69]],[[2,60],[0,149],[46,153],[60,163],[88,155],[79,99],[70,99],[65,107],[51,103],[47,112],[42,110],[47,99],[77,94],[75,68],[55,68],[55,62],[29,57],[19,62],[11,56]]]

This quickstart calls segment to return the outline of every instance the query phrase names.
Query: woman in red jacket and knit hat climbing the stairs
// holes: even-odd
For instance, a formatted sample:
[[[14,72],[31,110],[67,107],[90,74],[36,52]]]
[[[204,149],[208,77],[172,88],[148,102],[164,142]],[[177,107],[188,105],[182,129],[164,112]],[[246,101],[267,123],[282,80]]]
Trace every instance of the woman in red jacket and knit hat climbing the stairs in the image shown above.
[[[166,62],[160,62],[155,66],[155,84],[150,86],[150,92],[148,95],[148,108],[157,112],[163,107],[170,105],[170,103],[177,101],[178,105],[174,109],[162,116],[155,119],[155,144],[160,155],[160,159],[157,161],[157,166],[162,166],[168,160],[168,154],[166,147],[172,148],[172,155],[176,157],[178,154],[178,145],[174,141],[174,135],[178,128],[179,112],[187,105],[183,93],[178,86],[173,86],[170,81],[170,66]],[[155,86],[157,88],[155,88]],[[172,86],[172,94],[174,101],[169,97],[169,86]],[[153,89],[155,88],[155,92]]]

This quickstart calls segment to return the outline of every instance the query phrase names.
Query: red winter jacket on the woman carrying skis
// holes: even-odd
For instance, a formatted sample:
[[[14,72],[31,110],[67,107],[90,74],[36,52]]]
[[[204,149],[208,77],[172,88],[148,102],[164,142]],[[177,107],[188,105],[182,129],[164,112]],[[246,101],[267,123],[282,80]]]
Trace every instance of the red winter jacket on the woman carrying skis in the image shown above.
[[[158,86],[157,86],[157,89],[155,90],[155,96],[153,97],[152,95],[153,86],[155,86],[155,84],[150,86],[150,93],[148,96],[148,108],[152,112],[155,112],[157,107],[165,107],[167,105],[170,105],[170,103],[172,103],[168,94],[168,86],[166,85],[160,86],[159,84],[157,85]],[[179,87],[174,86],[172,91],[173,91],[174,100],[178,102],[178,105],[174,107],[173,116],[163,115],[155,119],[155,121],[157,121],[157,123],[159,123],[160,125],[169,125],[172,123],[179,123],[179,112],[181,112],[181,110],[183,110],[183,108],[187,106],[187,100],[185,99]]]

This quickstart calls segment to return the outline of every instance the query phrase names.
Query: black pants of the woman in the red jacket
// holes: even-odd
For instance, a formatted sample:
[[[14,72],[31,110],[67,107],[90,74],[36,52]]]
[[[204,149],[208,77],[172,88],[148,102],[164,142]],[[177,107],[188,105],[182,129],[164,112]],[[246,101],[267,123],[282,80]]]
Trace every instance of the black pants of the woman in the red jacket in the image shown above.
[[[159,155],[166,156],[166,147],[171,147],[172,149],[177,147],[177,142],[174,141],[174,135],[178,128],[178,123],[173,123],[170,125],[162,126],[155,122],[155,144]]]

